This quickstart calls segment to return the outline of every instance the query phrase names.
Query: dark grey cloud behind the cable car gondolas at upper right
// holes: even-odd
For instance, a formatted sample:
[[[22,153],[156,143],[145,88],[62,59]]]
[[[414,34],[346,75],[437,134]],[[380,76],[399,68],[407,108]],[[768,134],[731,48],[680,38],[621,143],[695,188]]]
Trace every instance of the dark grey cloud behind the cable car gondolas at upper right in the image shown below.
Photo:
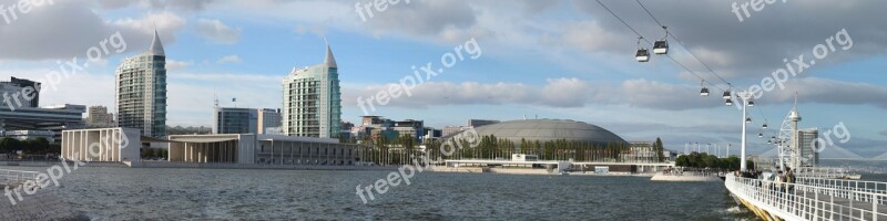
[[[620,18],[648,39],[660,39],[662,29],[633,1],[604,2]],[[836,2],[836,1],[789,1],[771,4],[764,10],[754,11],[751,18],[740,22],[731,10],[732,2],[720,1],[645,1],[644,6],[664,24],[682,43],[690,46],[701,60],[724,77],[755,77],[769,74],[784,66],[784,57],[794,59],[810,51],[816,44],[826,43],[826,39],[846,29],[852,36],[854,48],[829,54],[819,63],[839,63],[860,60],[881,54],[887,42],[878,41],[887,38],[887,30],[873,29],[885,27],[887,20],[878,9],[887,7],[884,1]],[[574,1],[581,12],[593,17],[603,31],[598,35],[614,35],[614,41],[622,51],[631,51],[636,34],[605,11],[595,1]],[[680,10],[677,10],[680,9]],[[786,17],[786,11],[797,17]],[[873,19],[874,14],[878,19]],[[810,21],[816,21],[810,25]],[[569,33],[570,31],[568,31]],[[672,51],[681,53],[682,49],[672,40]],[[600,41],[594,39],[594,41]],[[604,40],[605,41],[605,40]],[[597,43],[595,43],[597,44]],[[649,45],[648,45],[649,46]],[[597,48],[580,48],[585,52],[598,52]],[[671,54],[671,52],[670,52]],[[689,54],[687,54],[689,55]],[[675,57],[686,65],[701,71],[692,57]],[[699,67],[699,69],[696,69]]]

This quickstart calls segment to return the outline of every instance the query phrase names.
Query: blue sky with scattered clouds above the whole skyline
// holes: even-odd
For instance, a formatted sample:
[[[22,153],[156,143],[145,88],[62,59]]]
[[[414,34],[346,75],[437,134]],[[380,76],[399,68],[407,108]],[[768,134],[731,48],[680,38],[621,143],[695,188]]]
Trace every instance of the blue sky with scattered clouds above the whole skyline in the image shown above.
[[[826,152],[887,158],[887,1],[640,1],[655,20],[636,1],[602,0],[619,19],[597,1],[374,2],[0,0],[0,78],[43,82],[41,105],[114,110],[115,69],[145,52],[156,28],[167,125],[210,126],[216,97],[279,108],[283,78],[322,63],[328,42],[349,122],[558,118],[626,140],[661,137],[679,151],[735,147],[742,113],[721,98],[730,83],[763,91],[748,110],[752,154],[774,148],[756,135],[778,136],[797,94],[799,125],[830,138]],[[22,3],[31,7],[10,8]],[[657,22],[671,34],[669,55],[635,62],[639,46],[665,36]],[[429,63],[434,74],[421,71]],[[385,105],[359,106],[396,87]]]

